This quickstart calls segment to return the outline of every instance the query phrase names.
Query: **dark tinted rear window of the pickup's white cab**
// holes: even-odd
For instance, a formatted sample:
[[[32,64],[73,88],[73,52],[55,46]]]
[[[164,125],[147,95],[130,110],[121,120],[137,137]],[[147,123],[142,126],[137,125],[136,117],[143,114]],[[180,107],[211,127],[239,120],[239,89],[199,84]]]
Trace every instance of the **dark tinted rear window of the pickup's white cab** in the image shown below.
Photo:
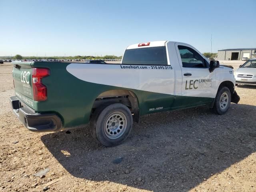
[[[126,49],[122,64],[167,65],[166,47]]]

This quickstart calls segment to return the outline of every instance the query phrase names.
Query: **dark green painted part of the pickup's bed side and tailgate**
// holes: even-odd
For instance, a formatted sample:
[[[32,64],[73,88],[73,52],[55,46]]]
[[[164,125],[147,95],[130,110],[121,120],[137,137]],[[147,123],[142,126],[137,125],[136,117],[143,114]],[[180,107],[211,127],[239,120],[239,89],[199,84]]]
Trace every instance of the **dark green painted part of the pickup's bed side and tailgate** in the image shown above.
[[[18,82],[20,80],[18,76],[21,72],[18,72],[15,67],[13,68],[16,75],[14,77],[15,90],[21,96],[32,100],[33,106],[28,106],[38,113],[53,112],[58,114],[62,119],[64,128],[87,124],[90,120],[95,99],[108,90],[129,90],[133,92],[138,98],[140,115],[210,105],[214,100],[214,98],[175,96],[85,82],[66,70],[66,66],[70,63],[72,62],[22,62],[23,66],[20,70],[31,71],[31,74],[32,68],[50,69],[50,76],[42,79],[42,83],[47,87],[48,94],[48,99],[42,102],[34,101],[33,95],[28,96],[22,93],[22,84]],[[30,76],[30,86],[32,87],[31,83],[32,76]],[[23,99],[21,100],[24,102]]]

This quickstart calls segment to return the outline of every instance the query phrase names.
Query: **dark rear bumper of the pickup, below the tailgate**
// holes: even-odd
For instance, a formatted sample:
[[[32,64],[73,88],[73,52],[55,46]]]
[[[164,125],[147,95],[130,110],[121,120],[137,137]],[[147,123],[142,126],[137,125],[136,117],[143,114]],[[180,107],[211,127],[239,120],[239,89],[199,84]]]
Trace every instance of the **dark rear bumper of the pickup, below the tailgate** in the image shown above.
[[[33,132],[56,132],[61,130],[62,122],[57,114],[40,114],[27,106],[22,107],[16,96],[10,97],[10,104],[13,113],[28,130]]]

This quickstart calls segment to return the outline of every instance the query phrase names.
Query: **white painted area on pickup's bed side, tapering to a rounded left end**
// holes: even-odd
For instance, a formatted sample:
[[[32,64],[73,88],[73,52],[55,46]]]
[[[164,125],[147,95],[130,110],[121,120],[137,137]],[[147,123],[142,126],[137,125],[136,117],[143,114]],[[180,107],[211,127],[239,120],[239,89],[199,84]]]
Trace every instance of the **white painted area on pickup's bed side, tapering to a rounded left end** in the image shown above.
[[[86,82],[174,94],[174,70],[171,68],[162,70],[145,65],[72,63],[66,69]]]

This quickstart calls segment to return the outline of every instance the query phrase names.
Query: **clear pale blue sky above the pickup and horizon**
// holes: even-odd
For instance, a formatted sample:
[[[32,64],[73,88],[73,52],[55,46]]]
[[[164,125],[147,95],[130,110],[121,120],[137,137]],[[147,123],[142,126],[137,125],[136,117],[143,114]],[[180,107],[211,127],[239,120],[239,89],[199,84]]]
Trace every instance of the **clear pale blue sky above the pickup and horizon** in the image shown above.
[[[256,47],[256,0],[0,0],[0,56],[121,56],[138,42]]]

